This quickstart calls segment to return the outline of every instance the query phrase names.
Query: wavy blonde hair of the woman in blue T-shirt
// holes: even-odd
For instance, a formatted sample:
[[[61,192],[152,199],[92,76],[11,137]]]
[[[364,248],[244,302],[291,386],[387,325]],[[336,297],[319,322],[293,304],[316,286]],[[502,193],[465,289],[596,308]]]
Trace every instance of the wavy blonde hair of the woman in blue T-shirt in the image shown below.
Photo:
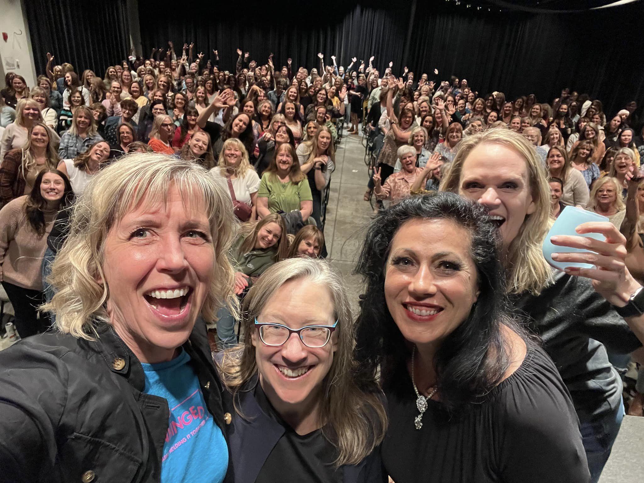
[[[202,316],[214,320],[224,305],[238,314],[232,293],[234,270],[228,258],[235,226],[228,193],[196,163],[159,153],[133,153],[93,176],[73,205],[70,234],[48,277],[56,294],[43,306],[55,314],[61,332],[92,340],[97,336],[95,323],[109,323],[109,287],[99,283],[105,279],[102,264],[108,233],[129,211],[166,203],[171,185],[177,187],[184,204],[197,200],[208,214],[214,266]]]

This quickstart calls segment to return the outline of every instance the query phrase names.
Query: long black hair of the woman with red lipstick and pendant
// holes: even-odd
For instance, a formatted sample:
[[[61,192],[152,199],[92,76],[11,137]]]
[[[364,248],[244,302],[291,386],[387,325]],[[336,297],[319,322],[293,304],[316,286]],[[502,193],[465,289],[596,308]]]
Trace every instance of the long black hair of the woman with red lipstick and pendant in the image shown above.
[[[434,359],[441,402],[448,410],[457,410],[502,381],[510,364],[503,325],[527,341],[524,329],[507,315],[504,270],[498,257],[500,238],[480,205],[458,194],[435,193],[406,198],[375,218],[355,268],[366,281],[355,358],[370,375],[380,368],[383,385],[389,386],[394,382],[393,374],[411,356],[411,347],[387,308],[384,279],[393,236],[413,218],[451,220],[471,236],[478,299],[469,316],[444,339]]]

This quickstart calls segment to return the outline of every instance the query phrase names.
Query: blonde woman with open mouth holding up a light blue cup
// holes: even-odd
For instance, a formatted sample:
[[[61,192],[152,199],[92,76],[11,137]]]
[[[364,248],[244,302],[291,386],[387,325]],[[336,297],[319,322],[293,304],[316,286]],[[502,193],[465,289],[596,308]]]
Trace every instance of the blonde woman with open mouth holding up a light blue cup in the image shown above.
[[[590,276],[586,272],[553,272],[547,265],[542,244],[551,223],[550,190],[542,163],[522,135],[489,129],[465,138],[440,189],[484,205],[497,224],[509,296],[516,310],[531,319],[531,327],[542,337],[571,393],[592,481],[596,482],[624,414],[621,379],[602,343],[620,354],[640,345],[609,303],[616,299],[612,293],[616,289],[595,291],[584,278]],[[600,230],[616,240],[612,223],[595,225],[598,227],[593,231]],[[565,241],[558,241],[558,245],[569,245],[568,238],[579,237],[562,238]],[[593,250],[612,253],[618,245],[603,243],[609,246]],[[571,255],[556,256],[563,261]],[[603,258],[593,258],[593,263],[604,268]],[[605,270],[616,271],[617,265]]]

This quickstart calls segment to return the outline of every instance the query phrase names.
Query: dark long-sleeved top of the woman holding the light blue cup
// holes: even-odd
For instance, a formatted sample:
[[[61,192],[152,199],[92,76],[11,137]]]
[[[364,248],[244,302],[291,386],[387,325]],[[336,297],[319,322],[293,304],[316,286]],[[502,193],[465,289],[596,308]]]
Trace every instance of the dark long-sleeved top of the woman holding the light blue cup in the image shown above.
[[[583,424],[614,412],[620,404],[621,379],[606,348],[630,354],[641,343],[589,279],[553,271],[554,282],[540,296],[522,294],[512,301],[542,337]]]

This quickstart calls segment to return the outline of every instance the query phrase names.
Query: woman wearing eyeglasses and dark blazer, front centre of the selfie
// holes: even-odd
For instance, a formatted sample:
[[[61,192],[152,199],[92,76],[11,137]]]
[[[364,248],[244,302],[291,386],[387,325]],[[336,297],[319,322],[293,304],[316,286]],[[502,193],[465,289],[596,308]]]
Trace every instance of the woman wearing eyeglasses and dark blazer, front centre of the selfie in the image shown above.
[[[386,482],[381,392],[357,375],[350,304],[327,263],[276,263],[243,314],[244,345],[218,357],[234,482]]]

